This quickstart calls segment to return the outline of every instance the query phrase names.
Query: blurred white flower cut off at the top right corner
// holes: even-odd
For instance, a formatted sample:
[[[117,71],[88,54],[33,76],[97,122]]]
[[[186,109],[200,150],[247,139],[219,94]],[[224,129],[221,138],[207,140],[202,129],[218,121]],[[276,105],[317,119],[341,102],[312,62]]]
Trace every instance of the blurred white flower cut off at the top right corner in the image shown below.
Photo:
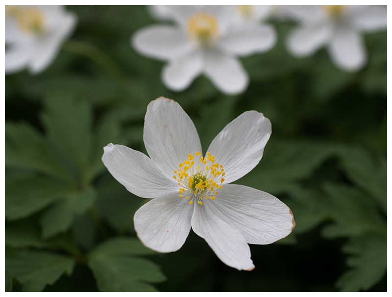
[[[300,23],[287,40],[292,54],[306,56],[326,46],[332,61],[346,71],[367,62],[361,32],[387,27],[386,5],[287,5],[284,12]]]

